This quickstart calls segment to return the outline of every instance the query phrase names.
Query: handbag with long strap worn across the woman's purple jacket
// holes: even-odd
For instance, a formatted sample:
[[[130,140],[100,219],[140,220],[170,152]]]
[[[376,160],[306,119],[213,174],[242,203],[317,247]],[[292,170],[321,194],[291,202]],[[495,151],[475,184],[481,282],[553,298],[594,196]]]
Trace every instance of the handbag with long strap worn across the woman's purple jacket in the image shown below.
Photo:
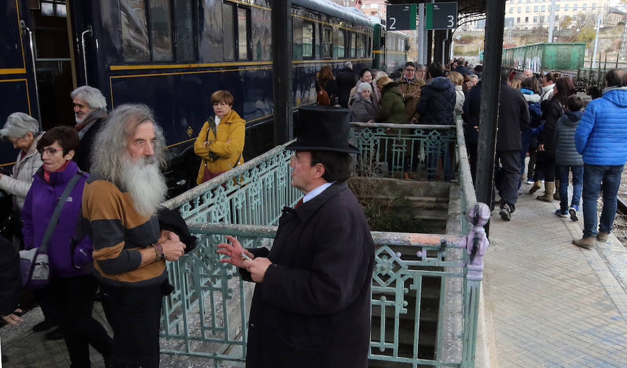
[[[70,179],[68,186],[65,186],[65,190],[63,194],[61,194],[59,202],[56,202],[56,207],[54,207],[52,218],[50,218],[50,222],[46,227],[46,232],[40,246],[29,250],[20,250],[20,275],[22,275],[23,287],[41,289],[42,287],[46,287],[48,282],[50,282],[50,262],[47,253],[48,242],[52,237],[52,232],[54,232],[56,224],[59,222],[59,216],[61,215],[63,205],[65,205],[65,200],[68,199],[68,195],[70,195],[70,192],[74,189],[83,174],[84,173],[79,170],[76,175]]]

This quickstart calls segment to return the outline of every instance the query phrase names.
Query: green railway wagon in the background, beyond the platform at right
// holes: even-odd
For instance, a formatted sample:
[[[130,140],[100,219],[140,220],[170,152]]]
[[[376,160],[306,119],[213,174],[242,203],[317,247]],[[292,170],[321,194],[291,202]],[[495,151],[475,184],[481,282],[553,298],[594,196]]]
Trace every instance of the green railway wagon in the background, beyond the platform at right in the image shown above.
[[[504,67],[516,70],[532,70],[539,74],[547,70],[578,70],[583,67],[585,42],[548,43],[503,49]]]

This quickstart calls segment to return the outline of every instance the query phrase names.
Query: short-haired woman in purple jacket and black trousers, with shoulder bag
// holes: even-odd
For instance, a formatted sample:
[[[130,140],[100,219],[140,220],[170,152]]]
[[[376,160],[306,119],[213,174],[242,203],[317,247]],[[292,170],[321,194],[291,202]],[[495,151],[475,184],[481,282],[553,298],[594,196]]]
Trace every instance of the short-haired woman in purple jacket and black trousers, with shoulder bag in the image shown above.
[[[57,200],[70,179],[79,172],[77,164],[72,161],[79,144],[77,131],[71,127],[50,129],[37,143],[43,165],[33,175],[33,184],[22,209],[26,249],[41,245]],[[51,306],[61,317],[70,366],[90,367],[88,344],[102,354],[106,365],[111,358],[111,337],[92,317],[98,282],[92,275],[91,240],[88,237],[72,240],[81,216],[83,188],[88,174],[80,175],[82,177],[65,200],[59,222],[48,242],[52,273],[47,294]]]

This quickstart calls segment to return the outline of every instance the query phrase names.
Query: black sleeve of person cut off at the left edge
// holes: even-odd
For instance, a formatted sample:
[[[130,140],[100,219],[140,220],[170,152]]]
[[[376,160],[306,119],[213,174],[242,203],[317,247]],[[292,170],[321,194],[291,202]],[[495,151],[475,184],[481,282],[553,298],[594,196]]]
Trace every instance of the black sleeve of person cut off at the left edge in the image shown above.
[[[22,289],[20,259],[10,241],[0,236],[0,315],[8,316],[17,308]]]

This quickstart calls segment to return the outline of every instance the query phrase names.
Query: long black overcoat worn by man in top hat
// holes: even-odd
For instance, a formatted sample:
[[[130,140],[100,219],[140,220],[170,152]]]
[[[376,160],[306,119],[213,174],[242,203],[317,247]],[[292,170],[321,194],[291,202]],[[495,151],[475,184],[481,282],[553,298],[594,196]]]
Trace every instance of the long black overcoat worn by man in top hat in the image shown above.
[[[246,367],[365,368],[374,244],[346,183],[284,208],[270,253],[251,252],[272,265],[255,287]]]

